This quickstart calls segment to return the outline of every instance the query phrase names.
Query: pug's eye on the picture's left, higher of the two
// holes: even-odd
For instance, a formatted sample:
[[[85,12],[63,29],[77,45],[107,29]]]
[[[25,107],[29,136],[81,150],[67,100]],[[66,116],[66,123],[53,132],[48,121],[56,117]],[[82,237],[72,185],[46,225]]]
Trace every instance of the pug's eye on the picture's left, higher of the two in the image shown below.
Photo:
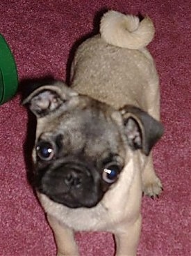
[[[38,157],[42,160],[49,161],[54,156],[53,146],[49,142],[40,142],[36,147]]]

